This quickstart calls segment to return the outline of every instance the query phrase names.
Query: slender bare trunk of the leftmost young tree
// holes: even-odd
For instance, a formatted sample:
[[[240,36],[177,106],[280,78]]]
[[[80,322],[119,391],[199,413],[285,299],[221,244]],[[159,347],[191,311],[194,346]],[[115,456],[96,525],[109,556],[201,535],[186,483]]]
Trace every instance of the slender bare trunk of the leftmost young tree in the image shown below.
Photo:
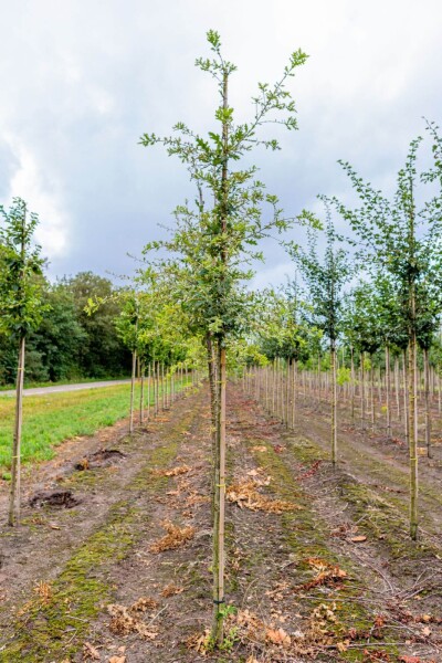
[[[11,460],[11,492],[9,499],[8,525],[13,527],[20,524],[20,497],[21,497],[21,428],[23,413],[23,379],[24,379],[24,351],[25,338],[19,341],[19,361],[15,382],[15,423],[12,442]]]

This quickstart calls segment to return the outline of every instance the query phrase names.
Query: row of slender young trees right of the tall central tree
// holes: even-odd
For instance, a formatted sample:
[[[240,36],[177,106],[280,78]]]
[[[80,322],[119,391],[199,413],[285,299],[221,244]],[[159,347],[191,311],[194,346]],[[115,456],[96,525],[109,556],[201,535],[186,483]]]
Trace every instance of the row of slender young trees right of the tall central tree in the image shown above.
[[[366,420],[366,393],[375,393],[373,359],[382,354],[387,434],[391,436],[391,373],[394,370],[396,400],[399,399],[399,360],[403,375],[403,425],[410,456],[410,536],[418,535],[418,354],[423,365],[425,443],[431,455],[430,352],[440,347],[442,314],[442,139],[439,128],[427,123],[427,141],[411,141],[406,164],[391,198],[364,181],[348,164],[341,162],[358,198],[354,208],[337,198],[320,197],[325,206],[325,248],[318,249],[319,231],[309,230],[307,250],[287,243],[303,288],[292,283],[277,301],[277,322],[261,332],[267,356],[284,358],[286,383],[291,366],[317,344],[318,334],[328,344],[332,389],[330,455],[338,460],[337,343],[350,356],[352,410],[356,383],[360,385],[361,419]],[[419,167],[419,150],[423,168]],[[339,236],[333,213],[344,221],[347,238]],[[341,221],[341,223],[343,223]],[[350,246],[350,249],[348,248]],[[303,297],[304,296],[304,297]],[[302,301],[302,297],[304,301]],[[272,315],[272,307],[269,309]],[[272,336],[273,333],[273,336]],[[272,347],[273,346],[273,347]],[[356,380],[355,356],[361,376]],[[400,359],[399,359],[400,358]],[[366,387],[366,361],[371,383]],[[440,371],[440,364],[436,365]],[[381,378],[379,378],[380,382]],[[286,389],[290,389],[286,385]],[[438,388],[440,381],[438,382]],[[439,398],[439,397],[438,397]],[[371,404],[375,418],[375,406]]]

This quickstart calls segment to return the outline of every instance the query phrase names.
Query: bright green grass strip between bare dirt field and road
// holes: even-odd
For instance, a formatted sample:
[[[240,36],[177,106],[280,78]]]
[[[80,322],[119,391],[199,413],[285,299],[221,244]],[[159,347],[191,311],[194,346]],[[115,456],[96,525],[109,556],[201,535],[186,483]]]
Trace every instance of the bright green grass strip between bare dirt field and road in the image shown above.
[[[137,385],[136,407],[139,389]],[[64,440],[92,435],[124,419],[129,413],[129,393],[130,385],[118,385],[27,397],[23,402],[22,462],[50,460],[54,448]],[[152,400],[150,393],[150,402]],[[14,400],[0,399],[0,469],[10,467],[13,421]]]

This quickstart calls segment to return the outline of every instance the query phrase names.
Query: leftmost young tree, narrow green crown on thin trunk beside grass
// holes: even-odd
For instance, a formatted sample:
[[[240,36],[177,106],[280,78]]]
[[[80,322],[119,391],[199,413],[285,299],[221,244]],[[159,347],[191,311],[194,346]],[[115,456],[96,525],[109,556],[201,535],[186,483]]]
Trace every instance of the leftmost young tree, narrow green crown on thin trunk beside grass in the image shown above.
[[[0,330],[18,344],[15,422],[12,442],[11,491],[8,524],[20,520],[20,461],[25,340],[38,327],[45,307],[42,305],[43,280],[41,248],[33,242],[38,214],[29,213],[27,203],[14,198],[7,211],[0,206]]]

